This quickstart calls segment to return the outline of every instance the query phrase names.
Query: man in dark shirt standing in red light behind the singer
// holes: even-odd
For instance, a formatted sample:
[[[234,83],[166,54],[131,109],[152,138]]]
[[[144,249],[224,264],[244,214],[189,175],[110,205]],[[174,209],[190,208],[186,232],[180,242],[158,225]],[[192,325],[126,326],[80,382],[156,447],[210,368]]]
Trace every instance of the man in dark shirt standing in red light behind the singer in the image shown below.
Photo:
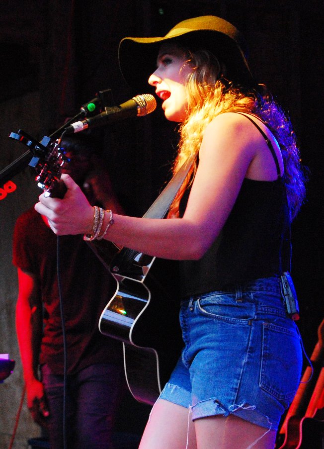
[[[65,138],[62,146],[70,158],[63,171],[88,200],[122,212],[92,139]],[[115,281],[82,236],[57,241],[34,208],[17,219],[13,264],[19,284],[16,331],[33,419],[48,430],[51,449],[62,449],[64,438],[69,449],[113,448],[114,418],[124,389],[122,347],[100,334],[98,321]]]

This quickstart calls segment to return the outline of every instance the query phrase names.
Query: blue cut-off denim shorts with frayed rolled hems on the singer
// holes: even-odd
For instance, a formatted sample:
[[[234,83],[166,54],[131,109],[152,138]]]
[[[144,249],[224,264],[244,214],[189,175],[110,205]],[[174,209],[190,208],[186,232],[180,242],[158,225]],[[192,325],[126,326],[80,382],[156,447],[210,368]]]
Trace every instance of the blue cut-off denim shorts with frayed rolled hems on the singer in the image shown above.
[[[302,342],[280,278],[257,279],[181,302],[181,358],[160,398],[192,419],[233,414],[277,430],[301,378]]]

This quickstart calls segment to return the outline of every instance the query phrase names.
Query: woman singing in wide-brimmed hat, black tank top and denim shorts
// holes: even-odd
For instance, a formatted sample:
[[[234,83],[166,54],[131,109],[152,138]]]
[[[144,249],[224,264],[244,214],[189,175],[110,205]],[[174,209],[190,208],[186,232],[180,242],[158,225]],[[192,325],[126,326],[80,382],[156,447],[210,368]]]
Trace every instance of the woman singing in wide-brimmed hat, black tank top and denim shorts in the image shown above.
[[[35,206],[58,235],[104,236],[180,261],[184,349],[140,449],[273,448],[300,381],[300,336],[281,276],[304,176],[290,121],[253,79],[244,45],[215,16],[121,41],[126,81],[148,79],[166,119],[180,123],[173,172],[194,157],[167,219],[95,218],[67,175],[64,199],[42,194]]]

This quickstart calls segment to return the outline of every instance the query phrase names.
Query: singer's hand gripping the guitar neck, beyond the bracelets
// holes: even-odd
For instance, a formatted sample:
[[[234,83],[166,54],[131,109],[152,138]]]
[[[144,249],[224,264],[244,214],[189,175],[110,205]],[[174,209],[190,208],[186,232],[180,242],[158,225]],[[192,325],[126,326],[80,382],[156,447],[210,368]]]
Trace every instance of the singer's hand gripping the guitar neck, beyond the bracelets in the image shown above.
[[[69,175],[62,175],[61,180],[67,187],[63,199],[39,196],[35,210],[48,219],[56,235],[92,234],[93,208],[88,203],[81,188]]]

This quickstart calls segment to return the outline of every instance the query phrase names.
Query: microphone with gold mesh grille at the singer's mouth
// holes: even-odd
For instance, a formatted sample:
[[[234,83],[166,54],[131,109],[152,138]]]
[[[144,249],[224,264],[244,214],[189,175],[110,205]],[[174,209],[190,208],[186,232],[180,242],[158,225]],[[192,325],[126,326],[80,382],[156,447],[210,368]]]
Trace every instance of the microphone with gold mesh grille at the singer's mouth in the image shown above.
[[[77,133],[89,127],[103,126],[124,120],[128,117],[143,117],[150,114],[157,107],[156,99],[150,93],[136,95],[119,106],[105,107],[105,110],[93,117],[72,123],[65,128],[66,134]]]

